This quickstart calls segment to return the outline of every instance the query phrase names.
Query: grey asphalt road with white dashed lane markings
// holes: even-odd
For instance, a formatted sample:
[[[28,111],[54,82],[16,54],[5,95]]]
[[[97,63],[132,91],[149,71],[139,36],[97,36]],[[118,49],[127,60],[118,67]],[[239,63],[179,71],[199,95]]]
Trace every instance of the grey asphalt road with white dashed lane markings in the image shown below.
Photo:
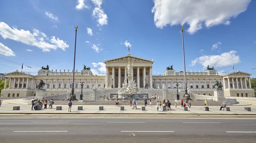
[[[0,118],[0,143],[255,143],[255,140],[256,119],[245,118]]]

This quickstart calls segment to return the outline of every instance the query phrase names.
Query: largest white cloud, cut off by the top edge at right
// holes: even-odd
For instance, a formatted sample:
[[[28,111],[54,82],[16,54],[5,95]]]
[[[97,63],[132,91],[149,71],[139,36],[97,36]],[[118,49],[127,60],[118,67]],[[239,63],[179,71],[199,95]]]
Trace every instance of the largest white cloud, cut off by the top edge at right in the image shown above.
[[[230,19],[247,10],[251,0],[154,0],[154,23],[157,28],[166,25],[189,25],[194,34],[203,26],[230,24]]]

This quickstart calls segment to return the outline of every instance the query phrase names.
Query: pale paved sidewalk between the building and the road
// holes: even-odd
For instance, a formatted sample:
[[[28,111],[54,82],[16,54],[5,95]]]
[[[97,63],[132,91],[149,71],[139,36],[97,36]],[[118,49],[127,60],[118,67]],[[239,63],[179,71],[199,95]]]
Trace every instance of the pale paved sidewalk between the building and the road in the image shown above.
[[[240,101],[240,100],[239,100]],[[8,104],[11,103],[11,104]],[[240,101],[247,103],[246,101]],[[115,105],[73,105],[72,112],[68,112],[68,105],[55,105],[53,104],[53,109],[42,109],[38,111],[31,110],[32,105],[22,103],[22,99],[13,99],[8,101],[3,101],[0,107],[0,114],[134,114],[134,115],[157,115],[157,114],[167,114],[167,115],[256,115],[256,101],[251,101],[250,106],[228,106],[231,111],[220,111],[220,106],[208,106],[209,111],[204,111],[204,106],[192,106],[188,108],[189,111],[183,111],[180,105],[174,108],[171,106],[171,111],[158,112],[155,105],[153,107],[146,107],[145,111],[141,110],[143,106],[137,106],[138,109],[131,109],[129,105],[124,105],[124,111],[120,111],[120,107]],[[240,104],[241,105],[241,104]],[[12,110],[14,106],[20,106],[20,110]],[[49,106],[49,104],[48,104]],[[56,110],[56,106],[62,106],[62,110]],[[83,107],[83,110],[77,110],[79,106]],[[103,106],[104,110],[99,111],[99,107]],[[122,106],[122,105],[120,105]],[[251,107],[251,112],[244,110],[244,107]]]

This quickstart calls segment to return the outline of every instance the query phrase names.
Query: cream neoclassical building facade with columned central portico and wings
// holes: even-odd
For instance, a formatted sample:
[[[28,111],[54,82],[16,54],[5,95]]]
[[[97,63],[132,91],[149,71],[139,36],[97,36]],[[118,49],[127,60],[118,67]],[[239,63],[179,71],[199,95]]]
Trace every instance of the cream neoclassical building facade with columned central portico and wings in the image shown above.
[[[131,63],[132,81],[137,83],[144,95],[150,97],[158,93],[166,98],[175,98],[177,86],[179,92],[185,90],[183,71],[166,70],[163,75],[152,75],[154,60],[148,60],[131,56],[130,53],[115,59],[104,60],[106,64],[106,75],[93,75],[90,70],[75,71],[74,88],[77,93],[81,92],[79,83],[84,82],[83,95],[90,100],[97,100],[105,94],[109,97],[117,95],[122,88],[122,83],[127,80],[126,66]],[[254,90],[251,88],[249,73],[237,71],[224,76],[218,75],[217,70],[186,71],[186,81],[189,94],[213,95],[215,81],[223,84],[224,96],[254,97]],[[73,83],[73,71],[69,70],[39,70],[36,76],[21,73],[18,70],[5,74],[5,86],[0,97],[25,97],[36,94],[36,85],[42,79],[47,85],[44,89],[47,95],[67,94],[69,95]],[[6,87],[6,82],[9,86]],[[247,85],[246,81],[249,81]],[[127,81],[128,82],[128,81]],[[163,89],[165,84],[166,89]],[[112,88],[113,85],[113,88]]]

